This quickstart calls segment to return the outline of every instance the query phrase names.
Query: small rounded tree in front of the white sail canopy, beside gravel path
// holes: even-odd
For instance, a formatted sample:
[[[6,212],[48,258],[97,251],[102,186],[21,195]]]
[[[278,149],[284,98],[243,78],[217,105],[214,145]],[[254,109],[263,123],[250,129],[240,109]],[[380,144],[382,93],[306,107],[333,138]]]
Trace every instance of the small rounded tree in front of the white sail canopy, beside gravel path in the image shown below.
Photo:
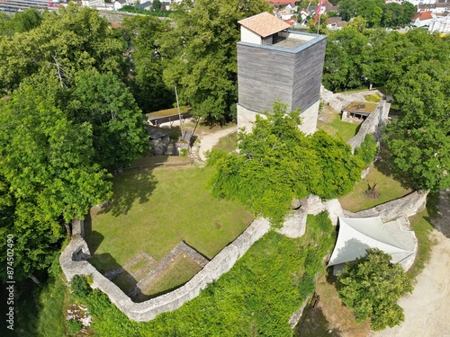
[[[400,297],[412,291],[410,279],[401,265],[376,248],[367,249],[365,257],[349,262],[338,275],[338,294],[353,309],[356,322],[371,319],[374,331],[395,326],[404,320]]]

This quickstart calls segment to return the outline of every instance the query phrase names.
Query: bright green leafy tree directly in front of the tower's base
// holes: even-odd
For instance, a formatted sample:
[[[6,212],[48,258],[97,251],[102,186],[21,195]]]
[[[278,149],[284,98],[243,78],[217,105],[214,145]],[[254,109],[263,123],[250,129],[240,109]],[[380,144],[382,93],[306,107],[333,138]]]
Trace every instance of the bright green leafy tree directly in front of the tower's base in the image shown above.
[[[299,129],[299,111],[286,114],[275,102],[274,113],[257,116],[252,132],[239,134],[239,154],[212,152],[211,179],[218,198],[238,200],[276,226],[283,222],[293,198],[313,193],[332,199],[351,191],[362,162],[350,146],[318,131],[306,137]]]

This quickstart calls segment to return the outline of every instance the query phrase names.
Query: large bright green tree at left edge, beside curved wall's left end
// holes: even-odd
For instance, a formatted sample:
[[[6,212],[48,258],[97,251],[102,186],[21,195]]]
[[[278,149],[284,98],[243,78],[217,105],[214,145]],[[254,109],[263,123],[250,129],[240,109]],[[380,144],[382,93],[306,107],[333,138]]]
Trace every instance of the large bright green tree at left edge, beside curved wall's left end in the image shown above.
[[[61,225],[110,196],[109,174],[92,161],[92,129],[58,109],[57,90],[24,83],[0,107],[0,231],[14,235],[17,280],[48,268]]]

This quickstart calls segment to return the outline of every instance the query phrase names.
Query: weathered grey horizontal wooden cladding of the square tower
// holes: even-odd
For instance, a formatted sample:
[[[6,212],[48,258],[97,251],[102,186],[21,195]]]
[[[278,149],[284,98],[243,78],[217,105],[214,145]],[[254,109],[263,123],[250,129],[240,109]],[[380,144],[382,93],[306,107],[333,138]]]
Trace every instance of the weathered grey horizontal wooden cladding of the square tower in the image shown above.
[[[238,102],[257,112],[272,111],[276,100],[305,110],[320,98],[327,40],[293,50],[238,43]]]

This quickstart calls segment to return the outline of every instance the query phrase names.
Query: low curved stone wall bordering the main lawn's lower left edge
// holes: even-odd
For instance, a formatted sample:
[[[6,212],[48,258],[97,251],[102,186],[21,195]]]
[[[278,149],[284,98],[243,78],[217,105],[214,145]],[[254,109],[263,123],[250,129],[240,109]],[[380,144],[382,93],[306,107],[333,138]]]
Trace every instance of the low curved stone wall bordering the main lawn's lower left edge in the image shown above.
[[[115,306],[131,320],[137,322],[147,322],[155,318],[156,315],[173,311],[185,302],[197,297],[209,283],[228,272],[235,262],[247,252],[248,248],[270,229],[270,224],[266,219],[255,220],[244,233],[222,249],[183,287],[145,302],[134,303],[111,280],[104,277],[92,264],[85,261],[90,253],[83,238],[83,221],[76,220],[72,226],[72,240],[59,257],[59,263],[67,280],[69,281],[75,275],[91,275],[93,279],[92,287],[101,289]]]

